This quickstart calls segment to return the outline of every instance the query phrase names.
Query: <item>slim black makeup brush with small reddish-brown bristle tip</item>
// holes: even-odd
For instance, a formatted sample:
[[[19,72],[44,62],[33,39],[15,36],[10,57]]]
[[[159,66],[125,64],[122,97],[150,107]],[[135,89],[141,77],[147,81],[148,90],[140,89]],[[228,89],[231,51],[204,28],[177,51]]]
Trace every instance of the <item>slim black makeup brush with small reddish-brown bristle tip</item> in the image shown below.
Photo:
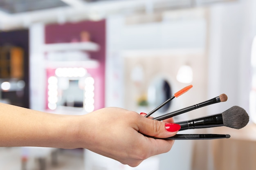
[[[202,102],[202,103],[199,103],[199,104],[195,104],[193,106],[189,106],[189,107],[186,107],[186,108],[182,108],[180,110],[177,110],[177,111],[174,111],[174,112],[171,112],[171,113],[167,113],[165,115],[162,115],[162,116],[159,116],[159,117],[155,117],[153,119],[155,120],[164,120],[164,119],[168,119],[170,117],[173,117],[173,116],[177,116],[177,115],[180,115],[182,113],[186,113],[186,112],[189,112],[191,110],[194,110],[194,109],[197,109],[197,108],[201,108],[201,107],[204,107],[204,106],[208,106],[210,104],[215,104],[215,103],[219,103],[219,102],[226,102],[227,101],[227,95],[225,94],[221,94],[213,99],[209,99],[205,102]]]

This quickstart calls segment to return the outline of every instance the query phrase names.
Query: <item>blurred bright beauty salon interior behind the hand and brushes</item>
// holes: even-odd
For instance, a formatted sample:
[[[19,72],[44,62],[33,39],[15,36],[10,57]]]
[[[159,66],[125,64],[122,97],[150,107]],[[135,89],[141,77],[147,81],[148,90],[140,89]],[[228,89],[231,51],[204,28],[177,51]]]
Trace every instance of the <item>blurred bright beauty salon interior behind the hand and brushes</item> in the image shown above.
[[[81,115],[116,106],[154,117],[225,93],[184,121],[243,107],[249,124],[186,130],[230,139],[175,141],[131,168],[89,150],[0,148],[8,170],[256,169],[255,0],[0,0],[0,102]]]

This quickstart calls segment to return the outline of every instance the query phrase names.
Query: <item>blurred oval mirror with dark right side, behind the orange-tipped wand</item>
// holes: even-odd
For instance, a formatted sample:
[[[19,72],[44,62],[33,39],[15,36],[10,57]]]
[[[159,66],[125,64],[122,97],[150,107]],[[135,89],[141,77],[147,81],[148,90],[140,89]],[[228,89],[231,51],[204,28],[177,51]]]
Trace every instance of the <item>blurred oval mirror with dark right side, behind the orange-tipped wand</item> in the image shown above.
[[[171,86],[167,79],[162,77],[157,77],[150,82],[148,87],[148,104],[153,110],[160,104],[164,103],[167,99],[171,97]],[[162,108],[157,110],[158,113],[165,113],[171,106],[171,102],[168,102]]]

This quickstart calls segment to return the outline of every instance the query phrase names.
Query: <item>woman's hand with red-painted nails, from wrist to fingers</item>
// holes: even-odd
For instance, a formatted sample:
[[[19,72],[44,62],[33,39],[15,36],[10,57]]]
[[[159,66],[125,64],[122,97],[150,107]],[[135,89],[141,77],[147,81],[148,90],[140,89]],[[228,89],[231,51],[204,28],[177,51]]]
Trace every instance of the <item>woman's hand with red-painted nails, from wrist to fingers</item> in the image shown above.
[[[83,119],[79,128],[81,147],[132,167],[148,157],[168,152],[174,143],[142,134],[166,138],[180,130],[180,125],[148,119],[122,108],[103,108]]]

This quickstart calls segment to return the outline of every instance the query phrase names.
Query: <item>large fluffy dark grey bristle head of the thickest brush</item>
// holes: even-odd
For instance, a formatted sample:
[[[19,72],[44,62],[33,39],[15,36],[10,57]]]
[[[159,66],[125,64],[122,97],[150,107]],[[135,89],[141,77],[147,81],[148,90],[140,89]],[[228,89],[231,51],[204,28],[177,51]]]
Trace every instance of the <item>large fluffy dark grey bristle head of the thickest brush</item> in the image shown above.
[[[233,106],[222,113],[223,125],[229,128],[240,129],[249,122],[249,115],[245,109]]]

